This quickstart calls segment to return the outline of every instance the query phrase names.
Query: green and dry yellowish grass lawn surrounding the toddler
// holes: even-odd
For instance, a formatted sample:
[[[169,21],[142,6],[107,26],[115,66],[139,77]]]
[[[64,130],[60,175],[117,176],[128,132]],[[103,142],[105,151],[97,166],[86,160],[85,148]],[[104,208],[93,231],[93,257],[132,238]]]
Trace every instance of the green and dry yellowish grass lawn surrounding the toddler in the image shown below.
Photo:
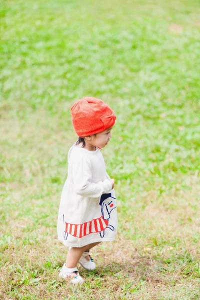
[[[0,299],[200,299],[199,0],[2,0]],[[70,106],[114,109],[118,234],[58,278]]]

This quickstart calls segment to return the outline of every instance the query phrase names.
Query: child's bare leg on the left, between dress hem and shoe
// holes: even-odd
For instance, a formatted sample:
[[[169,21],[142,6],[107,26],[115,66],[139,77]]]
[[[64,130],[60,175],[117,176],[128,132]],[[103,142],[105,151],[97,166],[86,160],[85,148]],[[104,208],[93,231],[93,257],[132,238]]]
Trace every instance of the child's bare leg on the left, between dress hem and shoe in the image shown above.
[[[98,243],[99,242],[93,242],[91,244],[88,244],[88,245],[80,247],[80,248],[71,247],[66,256],[66,262],[65,262],[66,267],[68,267],[68,268],[75,267],[76,264],[78,263],[78,260],[80,259],[80,256],[82,255],[82,253],[84,251],[88,251],[89,249],[93,248]]]

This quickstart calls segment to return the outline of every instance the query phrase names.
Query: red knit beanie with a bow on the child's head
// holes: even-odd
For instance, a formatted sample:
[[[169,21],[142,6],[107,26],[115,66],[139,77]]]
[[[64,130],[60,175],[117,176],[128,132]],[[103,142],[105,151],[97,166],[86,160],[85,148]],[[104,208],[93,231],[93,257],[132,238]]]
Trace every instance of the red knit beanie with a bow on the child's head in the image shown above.
[[[71,119],[75,132],[84,137],[102,132],[115,123],[114,111],[102,100],[83,97],[71,107]]]

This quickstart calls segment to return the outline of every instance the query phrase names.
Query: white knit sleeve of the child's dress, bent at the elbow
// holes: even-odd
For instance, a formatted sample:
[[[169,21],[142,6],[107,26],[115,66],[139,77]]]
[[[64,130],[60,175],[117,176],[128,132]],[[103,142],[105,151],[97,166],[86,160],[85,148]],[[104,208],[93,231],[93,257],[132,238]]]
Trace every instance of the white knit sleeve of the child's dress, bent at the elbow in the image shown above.
[[[96,183],[91,182],[92,165],[86,157],[78,157],[73,161],[71,175],[74,191],[78,195],[96,198],[112,189],[108,178]]]

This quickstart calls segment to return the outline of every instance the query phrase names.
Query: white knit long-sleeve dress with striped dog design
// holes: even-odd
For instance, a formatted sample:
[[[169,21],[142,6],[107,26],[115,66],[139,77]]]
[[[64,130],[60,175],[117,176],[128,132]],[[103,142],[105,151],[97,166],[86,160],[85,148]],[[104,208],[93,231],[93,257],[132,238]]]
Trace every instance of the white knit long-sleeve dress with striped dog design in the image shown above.
[[[68,174],[57,219],[58,239],[82,247],[114,239],[116,198],[101,152],[73,145],[68,152]]]

